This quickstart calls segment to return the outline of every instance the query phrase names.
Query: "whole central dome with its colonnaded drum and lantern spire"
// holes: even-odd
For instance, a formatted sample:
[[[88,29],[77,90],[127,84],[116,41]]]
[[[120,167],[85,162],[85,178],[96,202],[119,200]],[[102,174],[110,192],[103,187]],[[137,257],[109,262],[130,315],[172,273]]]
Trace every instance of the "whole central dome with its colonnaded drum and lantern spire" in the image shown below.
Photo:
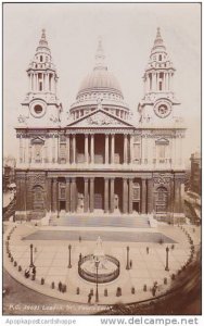
[[[74,120],[89,114],[100,105],[102,109],[127,120],[129,108],[124,102],[124,96],[116,77],[107,71],[102,41],[99,40],[95,65],[81,82],[75,103],[71,106]]]

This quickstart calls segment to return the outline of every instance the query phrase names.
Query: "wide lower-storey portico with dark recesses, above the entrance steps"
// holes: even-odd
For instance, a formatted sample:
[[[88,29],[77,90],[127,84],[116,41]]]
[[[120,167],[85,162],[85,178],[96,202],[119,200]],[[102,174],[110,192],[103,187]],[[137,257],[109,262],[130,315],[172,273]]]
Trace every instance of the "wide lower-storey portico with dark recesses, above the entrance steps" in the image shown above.
[[[49,177],[47,200],[53,212],[148,213],[148,179],[102,175]],[[149,189],[150,191],[150,189]],[[149,193],[149,197],[151,197]],[[150,198],[151,200],[151,198]]]

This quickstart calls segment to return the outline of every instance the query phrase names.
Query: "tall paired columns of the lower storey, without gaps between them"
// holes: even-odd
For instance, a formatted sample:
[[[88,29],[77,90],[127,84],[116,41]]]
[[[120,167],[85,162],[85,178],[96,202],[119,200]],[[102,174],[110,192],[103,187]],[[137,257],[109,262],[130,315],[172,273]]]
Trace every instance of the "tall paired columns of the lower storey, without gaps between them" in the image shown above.
[[[94,212],[94,188],[99,181],[98,177],[86,176],[80,177],[84,181],[84,212]],[[131,214],[133,210],[133,177],[114,177],[105,176],[100,177],[100,181],[103,184],[102,198],[103,198],[103,210],[104,213],[114,213],[115,208],[115,195],[118,192],[116,187],[116,179],[119,180],[122,185],[122,193],[119,196],[120,212],[124,214]],[[77,189],[77,177],[68,176],[65,177],[65,211],[66,212],[77,212],[78,209],[78,189]],[[140,206],[140,213],[150,213],[153,209],[153,193],[152,193],[152,179],[141,178],[140,180],[140,198],[137,199]],[[58,177],[52,177],[47,179],[47,210],[48,211],[60,211],[60,197],[59,197],[59,179]]]

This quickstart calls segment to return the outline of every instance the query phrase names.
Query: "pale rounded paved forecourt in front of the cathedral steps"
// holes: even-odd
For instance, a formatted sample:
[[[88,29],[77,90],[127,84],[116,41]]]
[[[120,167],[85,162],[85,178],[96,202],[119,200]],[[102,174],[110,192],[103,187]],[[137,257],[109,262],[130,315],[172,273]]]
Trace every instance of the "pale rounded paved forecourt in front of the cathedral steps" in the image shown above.
[[[13,227],[13,225],[11,225]],[[193,241],[196,244],[200,242],[200,228],[192,226],[184,226],[191,234]],[[193,228],[195,231],[193,231]],[[18,224],[16,229],[11,236],[10,250],[17,262],[17,266],[22,266],[22,272],[17,271],[17,266],[14,267],[13,263],[4,252],[4,267],[7,271],[20,283],[43,294],[64,299],[69,302],[87,303],[88,293],[91,289],[95,292],[95,284],[90,284],[78,275],[78,258],[81,253],[87,255],[93,253],[95,248],[95,241],[81,241],[78,240],[26,240],[31,234],[38,230],[65,230],[60,227],[35,227],[29,224]],[[67,231],[74,230],[74,228],[66,228]],[[76,230],[76,229],[75,229]],[[85,230],[85,229],[84,229]],[[91,227],[87,228],[87,236]],[[118,230],[118,239],[122,236],[124,229]],[[10,231],[8,228],[4,238]],[[103,228],[103,231],[105,229]],[[111,233],[111,229],[106,229]],[[115,229],[114,229],[115,231]],[[143,233],[142,229],[128,229],[129,233]],[[95,240],[98,238],[98,230],[95,230]],[[152,242],[154,233],[163,234],[164,236],[175,241],[175,248],[171,249],[171,243],[158,243]],[[103,240],[103,239],[102,239]],[[36,265],[37,274],[36,280],[24,277],[24,271],[29,266],[30,262],[30,248],[33,243],[37,252],[34,252],[34,264]],[[72,244],[72,268],[68,268],[68,244]],[[129,256],[132,261],[132,268],[126,269],[127,250],[129,246]],[[166,265],[166,246],[170,248],[169,251],[169,272],[165,271]],[[149,254],[146,253],[146,247],[149,247]],[[155,281],[158,284],[158,290],[156,294],[165,292],[171,283],[171,275],[176,274],[181,266],[187,262],[190,256],[190,243],[184,233],[177,226],[169,226],[160,224],[157,229],[151,229],[149,233],[149,242],[127,242],[123,241],[104,241],[103,249],[105,254],[111,254],[120,262],[120,274],[117,279],[106,285],[99,285],[99,298],[100,302],[97,306],[98,310],[104,309],[103,304],[113,304],[116,302],[136,302],[152,298],[152,287]],[[41,278],[44,278],[44,285],[41,285]],[[164,278],[167,278],[167,284],[164,284]],[[54,281],[55,289],[51,289],[51,284]],[[59,281],[66,285],[66,292],[62,293],[58,290]],[[143,291],[143,286],[146,285],[148,290]],[[76,290],[79,288],[79,294]],[[122,288],[122,296],[116,297],[117,287]],[[131,293],[131,288],[135,287],[136,292]],[[107,289],[109,296],[104,297],[104,289]],[[92,303],[94,297],[92,297]]]

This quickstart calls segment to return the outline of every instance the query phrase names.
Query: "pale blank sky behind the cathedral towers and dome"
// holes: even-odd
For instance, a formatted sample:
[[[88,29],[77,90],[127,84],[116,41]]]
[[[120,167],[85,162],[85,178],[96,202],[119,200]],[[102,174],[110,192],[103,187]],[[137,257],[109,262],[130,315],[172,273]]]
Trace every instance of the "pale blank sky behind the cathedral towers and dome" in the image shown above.
[[[142,75],[161,33],[176,67],[175,91],[187,124],[184,155],[201,140],[201,5],[199,3],[4,3],[3,155],[17,154],[17,111],[28,91],[26,68],[46,28],[65,112],[94,65],[99,36],[109,71],[132,112],[143,97]]]

